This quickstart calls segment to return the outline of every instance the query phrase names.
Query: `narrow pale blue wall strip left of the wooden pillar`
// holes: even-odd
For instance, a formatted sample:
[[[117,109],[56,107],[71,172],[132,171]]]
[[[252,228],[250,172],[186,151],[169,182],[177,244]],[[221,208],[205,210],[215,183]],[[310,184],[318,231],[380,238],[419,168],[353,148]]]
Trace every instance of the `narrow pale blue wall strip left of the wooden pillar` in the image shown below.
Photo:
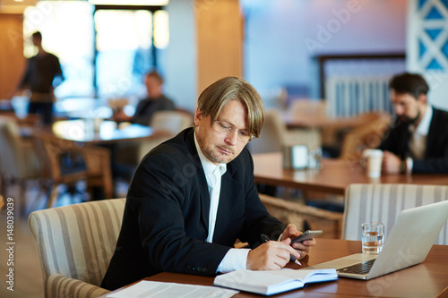
[[[194,0],[170,0],[169,46],[165,55],[164,91],[176,105],[194,111],[197,95]]]

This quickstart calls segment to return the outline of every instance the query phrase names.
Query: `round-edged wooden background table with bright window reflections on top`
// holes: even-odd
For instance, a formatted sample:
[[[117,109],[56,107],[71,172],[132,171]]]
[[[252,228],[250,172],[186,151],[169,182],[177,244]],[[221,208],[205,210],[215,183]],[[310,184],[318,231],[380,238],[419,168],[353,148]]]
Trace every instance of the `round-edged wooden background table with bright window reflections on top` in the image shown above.
[[[95,130],[93,119],[56,121],[51,126],[34,128],[30,131],[40,140],[40,149],[46,157],[53,161],[49,166],[51,173],[59,173],[59,162],[53,159],[51,150],[77,152],[86,161],[90,175],[100,175],[107,189],[107,198],[115,197],[113,178],[120,174],[120,163],[117,162],[117,145],[120,142],[135,140],[166,140],[170,132],[155,131],[151,127],[130,124],[118,128],[115,122],[103,121]],[[47,144],[47,146],[43,145]],[[102,152],[100,158],[91,157],[92,149]],[[54,155],[54,154],[53,154]],[[134,165],[131,165],[134,166]],[[122,166],[123,167],[123,166]],[[127,170],[127,168],[126,168]],[[133,169],[130,169],[131,171]],[[127,172],[125,173],[127,175]]]

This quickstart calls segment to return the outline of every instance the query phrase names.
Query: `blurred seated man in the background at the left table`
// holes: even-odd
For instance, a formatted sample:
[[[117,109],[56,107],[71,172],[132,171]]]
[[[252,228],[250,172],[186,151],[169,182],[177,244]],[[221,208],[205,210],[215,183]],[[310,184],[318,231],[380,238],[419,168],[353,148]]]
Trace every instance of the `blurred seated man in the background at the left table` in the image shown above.
[[[145,75],[144,84],[147,96],[138,103],[134,116],[125,115],[125,112],[120,109],[113,115],[116,122],[132,122],[148,126],[156,112],[175,109],[173,101],[162,93],[163,79],[158,72],[148,72]]]

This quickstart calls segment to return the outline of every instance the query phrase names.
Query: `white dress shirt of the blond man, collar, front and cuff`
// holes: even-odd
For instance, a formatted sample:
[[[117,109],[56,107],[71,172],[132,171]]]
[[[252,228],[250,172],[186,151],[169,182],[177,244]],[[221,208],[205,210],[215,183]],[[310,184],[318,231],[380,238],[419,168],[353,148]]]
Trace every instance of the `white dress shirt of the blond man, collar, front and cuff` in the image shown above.
[[[209,234],[205,240],[208,243],[213,241],[215,232],[216,216],[218,214],[218,206],[220,205],[220,188],[221,176],[227,171],[226,164],[216,166],[209,158],[206,158],[196,140],[196,132],[194,132],[194,145],[201,159],[201,164],[210,193],[210,212],[209,212]],[[246,269],[248,249],[230,249],[220,262],[216,272],[226,273],[237,269]]]

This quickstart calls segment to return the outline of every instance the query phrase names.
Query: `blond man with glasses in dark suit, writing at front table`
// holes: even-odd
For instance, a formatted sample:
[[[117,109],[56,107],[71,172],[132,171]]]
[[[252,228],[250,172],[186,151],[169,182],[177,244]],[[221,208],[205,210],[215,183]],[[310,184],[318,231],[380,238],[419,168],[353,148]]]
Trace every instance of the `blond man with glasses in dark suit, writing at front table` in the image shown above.
[[[214,276],[238,268],[280,269],[302,259],[315,240],[264,208],[246,144],[260,135],[264,108],[243,79],[205,89],[194,127],[152,149],[127,193],[116,251],[102,287],[113,290],[159,272]],[[272,239],[262,243],[261,234]],[[235,249],[239,239],[250,249]]]

